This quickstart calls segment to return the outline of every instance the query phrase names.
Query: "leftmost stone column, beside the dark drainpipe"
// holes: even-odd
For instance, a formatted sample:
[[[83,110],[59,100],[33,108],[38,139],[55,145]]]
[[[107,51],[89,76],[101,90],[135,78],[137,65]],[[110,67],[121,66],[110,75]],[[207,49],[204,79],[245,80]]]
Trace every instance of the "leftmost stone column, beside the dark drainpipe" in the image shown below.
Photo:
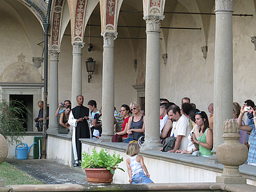
[[[59,50],[49,49],[49,132],[56,132],[58,127],[58,118],[55,112],[58,107],[58,62]]]

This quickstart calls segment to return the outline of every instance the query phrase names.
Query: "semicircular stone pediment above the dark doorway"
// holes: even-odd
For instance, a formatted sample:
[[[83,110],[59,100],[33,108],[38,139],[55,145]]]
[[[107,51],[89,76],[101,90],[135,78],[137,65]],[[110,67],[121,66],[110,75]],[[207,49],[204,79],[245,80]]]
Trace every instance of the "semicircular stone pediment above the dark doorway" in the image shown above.
[[[41,83],[42,76],[30,63],[25,62],[26,56],[20,53],[18,61],[11,63],[1,75],[1,82]]]

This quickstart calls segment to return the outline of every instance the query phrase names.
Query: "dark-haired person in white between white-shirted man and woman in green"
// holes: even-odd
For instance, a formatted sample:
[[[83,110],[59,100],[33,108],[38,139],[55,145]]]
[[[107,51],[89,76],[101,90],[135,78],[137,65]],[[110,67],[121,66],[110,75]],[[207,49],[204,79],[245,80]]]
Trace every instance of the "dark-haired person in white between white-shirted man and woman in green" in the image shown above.
[[[195,123],[195,114],[197,112],[200,112],[197,109],[193,109],[190,110],[189,112],[189,119],[190,122],[192,123],[192,130],[189,133],[189,136],[187,137],[188,142],[187,142],[187,148],[185,150],[176,150],[176,152],[180,152],[181,154],[192,154],[193,151],[197,150],[197,148],[195,148],[195,144],[192,143],[191,141],[191,135],[193,135],[194,131],[195,131],[195,127],[197,127],[197,124]]]

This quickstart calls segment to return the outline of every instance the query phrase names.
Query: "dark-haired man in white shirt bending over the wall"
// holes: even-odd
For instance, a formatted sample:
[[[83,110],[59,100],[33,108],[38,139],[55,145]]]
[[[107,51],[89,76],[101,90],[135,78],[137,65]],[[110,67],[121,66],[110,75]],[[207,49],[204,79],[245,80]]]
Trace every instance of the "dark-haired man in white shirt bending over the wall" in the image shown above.
[[[173,121],[171,136],[176,137],[174,149],[168,152],[176,152],[178,149],[185,150],[185,148],[187,148],[187,137],[192,129],[192,125],[185,115],[181,115],[179,106],[170,106],[167,111],[169,119]]]

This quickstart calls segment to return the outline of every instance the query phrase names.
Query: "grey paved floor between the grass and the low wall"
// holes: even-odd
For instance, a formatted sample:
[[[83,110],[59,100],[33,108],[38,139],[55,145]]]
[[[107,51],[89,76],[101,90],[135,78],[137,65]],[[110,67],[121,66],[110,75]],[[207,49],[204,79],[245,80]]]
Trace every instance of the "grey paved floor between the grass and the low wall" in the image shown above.
[[[70,168],[53,160],[17,160],[6,162],[46,184],[80,184],[88,185],[86,174],[80,167]]]

